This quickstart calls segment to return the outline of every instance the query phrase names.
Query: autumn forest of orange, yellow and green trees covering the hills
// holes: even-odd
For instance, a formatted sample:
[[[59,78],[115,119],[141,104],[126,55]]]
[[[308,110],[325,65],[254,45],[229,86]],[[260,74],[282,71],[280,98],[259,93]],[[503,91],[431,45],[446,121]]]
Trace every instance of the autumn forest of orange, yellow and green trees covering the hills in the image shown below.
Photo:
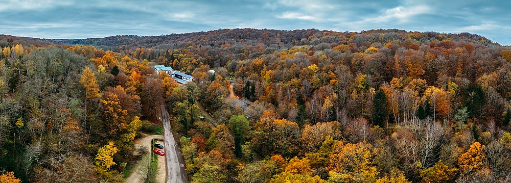
[[[0,180],[123,182],[166,102],[190,182],[511,181],[511,49],[479,35],[0,39]]]

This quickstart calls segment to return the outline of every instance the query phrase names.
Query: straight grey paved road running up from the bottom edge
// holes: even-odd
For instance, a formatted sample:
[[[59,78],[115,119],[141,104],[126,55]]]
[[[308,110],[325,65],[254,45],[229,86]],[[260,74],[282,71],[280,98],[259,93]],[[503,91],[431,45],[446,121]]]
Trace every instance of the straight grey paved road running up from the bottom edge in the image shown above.
[[[187,172],[184,170],[184,160],[177,143],[172,136],[169,113],[165,104],[161,104],[161,121],[165,130],[165,156],[167,160],[167,182],[188,182]]]

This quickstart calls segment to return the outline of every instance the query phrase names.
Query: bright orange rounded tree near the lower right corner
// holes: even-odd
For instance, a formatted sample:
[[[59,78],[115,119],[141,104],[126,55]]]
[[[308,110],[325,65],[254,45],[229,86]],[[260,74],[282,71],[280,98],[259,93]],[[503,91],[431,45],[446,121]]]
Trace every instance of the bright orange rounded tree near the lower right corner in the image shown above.
[[[476,171],[482,168],[483,161],[486,159],[484,149],[486,147],[479,142],[470,145],[467,152],[461,154],[458,158],[459,170],[463,173]]]

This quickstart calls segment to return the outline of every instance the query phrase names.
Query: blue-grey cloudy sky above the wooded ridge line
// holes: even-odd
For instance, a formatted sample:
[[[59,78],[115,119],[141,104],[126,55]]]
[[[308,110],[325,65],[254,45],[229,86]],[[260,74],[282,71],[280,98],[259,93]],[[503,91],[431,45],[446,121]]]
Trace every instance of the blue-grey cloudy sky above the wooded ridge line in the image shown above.
[[[37,38],[217,29],[469,32],[511,44],[511,1],[0,0],[0,34]]]

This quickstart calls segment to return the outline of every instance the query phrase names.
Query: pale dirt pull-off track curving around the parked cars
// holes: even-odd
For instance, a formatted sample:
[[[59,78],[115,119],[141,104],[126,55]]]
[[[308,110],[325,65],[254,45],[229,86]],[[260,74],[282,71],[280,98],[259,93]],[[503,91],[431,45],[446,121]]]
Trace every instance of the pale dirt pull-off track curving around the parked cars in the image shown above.
[[[147,170],[149,168],[149,161],[151,153],[151,140],[153,139],[163,139],[164,136],[161,135],[153,135],[146,136],[142,139],[137,139],[133,143],[135,144],[135,149],[145,149],[147,151],[146,154],[142,157],[142,160],[138,162],[134,166],[133,173],[126,179],[126,183],[138,183],[144,182],[144,179],[147,177]],[[137,152],[138,150],[135,150]],[[156,173],[156,182],[165,182],[165,156],[158,155],[158,172]]]

